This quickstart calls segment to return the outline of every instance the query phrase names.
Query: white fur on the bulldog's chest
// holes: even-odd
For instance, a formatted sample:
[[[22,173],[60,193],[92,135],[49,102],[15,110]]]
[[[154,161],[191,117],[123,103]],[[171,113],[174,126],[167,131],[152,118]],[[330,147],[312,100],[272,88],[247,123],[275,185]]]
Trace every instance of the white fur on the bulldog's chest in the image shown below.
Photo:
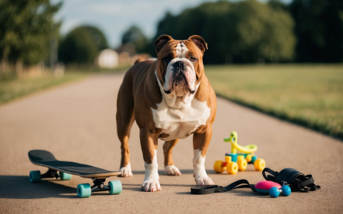
[[[161,128],[161,133],[169,135],[161,138],[161,140],[170,141],[187,138],[199,126],[206,124],[210,115],[210,108],[206,102],[194,98],[195,93],[187,95],[187,98],[177,97],[176,101],[172,102],[174,105],[171,105],[170,100],[175,100],[172,96],[176,95],[166,95],[160,83],[159,87],[162,93],[162,101],[156,104],[157,109],[151,108],[151,111],[156,128]]]

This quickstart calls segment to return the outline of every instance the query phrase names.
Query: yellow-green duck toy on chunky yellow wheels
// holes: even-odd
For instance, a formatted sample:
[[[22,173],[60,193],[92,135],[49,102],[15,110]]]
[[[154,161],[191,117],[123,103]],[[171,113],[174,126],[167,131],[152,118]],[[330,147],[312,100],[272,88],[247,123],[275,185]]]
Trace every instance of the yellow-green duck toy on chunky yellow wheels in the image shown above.
[[[237,143],[238,135],[236,131],[232,131],[230,138],[225,138],[224,141],[231,143],[231,153],[225,154],[225,161],[216,161],[214,163],[216,173],[227,170],[227,173],[234,175],[237,171],[246,170],[248,163],[254,164],[254,168],[259,171],[266,167],[266,162],[262,158],[254,156],[254,152],[257,151],[256,145],[240,146]],[[240,153],[237,153],[237,151]]]

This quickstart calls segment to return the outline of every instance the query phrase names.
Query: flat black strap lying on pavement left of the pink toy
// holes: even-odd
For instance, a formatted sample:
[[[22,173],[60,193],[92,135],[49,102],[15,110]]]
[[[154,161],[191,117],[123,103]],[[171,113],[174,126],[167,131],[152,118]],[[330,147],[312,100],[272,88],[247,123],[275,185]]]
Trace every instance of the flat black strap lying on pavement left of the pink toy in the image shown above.
[[[245,185],[241,185],[241,184],[245,184]],[[254,184],[250,184],[248,180],[242,179],[242,180],[237,180],[234,183],[231,183],[225,187],[222,187],[221,185],[206,185],[206,186],[193,187],[191,188],[191,193],[194,195],[224,193],[229,190],[234,190],[238,188],[251,188],[254,192],[256,192]]]

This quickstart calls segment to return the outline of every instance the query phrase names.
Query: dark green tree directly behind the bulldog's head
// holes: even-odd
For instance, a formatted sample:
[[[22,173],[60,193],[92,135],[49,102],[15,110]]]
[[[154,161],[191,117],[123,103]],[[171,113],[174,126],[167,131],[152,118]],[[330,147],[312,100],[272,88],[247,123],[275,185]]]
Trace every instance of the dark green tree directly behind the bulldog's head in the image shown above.
[[[228,35],[226,34],[228,26],[227,14],[232,7],[229,1],[218,1],[215,3],[204,3],[195,8],[185,9],[179,15],[166,13],[164,19],[159,21],[156,36],[152,43],[162,34],[168,34],[174,39],[188,39],[194,34],[202,36],[209,50],[204,56],[204,63],[225,63],[226,58],[232,54],[227,52]],[[151,43],[152,56],[156,55],[154,45]]]

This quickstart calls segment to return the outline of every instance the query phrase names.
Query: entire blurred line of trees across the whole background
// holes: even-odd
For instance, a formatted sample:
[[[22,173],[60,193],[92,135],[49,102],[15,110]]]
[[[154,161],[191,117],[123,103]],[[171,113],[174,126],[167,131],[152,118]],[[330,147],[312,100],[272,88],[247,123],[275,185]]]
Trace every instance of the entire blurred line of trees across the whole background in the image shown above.
[[[53,40],[59,44],[59,61],[66,64],[93,63],[109,47],[94,26],[61,36],[61,23],[54,21],[60,8],[49,0],[0,0],[0,72],[9,63],[49,65]],[[180,14],[167,12],[152,38],[129,27],[121,47],[131,45],[136,53],[156,56],[153,43],[161,34],[174,39],[202,36],[209,44],[204,63],[342,62],[343,1],[207,2]]]

